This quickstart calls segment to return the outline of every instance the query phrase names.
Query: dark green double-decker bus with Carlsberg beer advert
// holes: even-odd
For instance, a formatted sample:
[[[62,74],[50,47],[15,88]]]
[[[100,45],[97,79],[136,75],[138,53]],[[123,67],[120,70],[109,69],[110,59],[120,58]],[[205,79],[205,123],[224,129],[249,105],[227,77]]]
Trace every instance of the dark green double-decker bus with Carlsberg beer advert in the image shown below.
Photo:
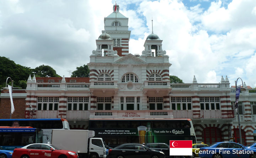
[[[123,143],[169,144],[169,140],[196,143],[191,119],[90,119],[89,130],[112,147]]]

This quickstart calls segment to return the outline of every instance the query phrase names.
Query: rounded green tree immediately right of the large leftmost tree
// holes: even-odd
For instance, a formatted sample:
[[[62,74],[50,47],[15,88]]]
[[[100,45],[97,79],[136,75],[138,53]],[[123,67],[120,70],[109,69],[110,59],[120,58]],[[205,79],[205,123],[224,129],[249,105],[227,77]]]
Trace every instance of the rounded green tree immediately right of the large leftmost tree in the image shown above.
[[[48,65],[40,65],[33,69],[36,77],[60,77],[56,71]]]

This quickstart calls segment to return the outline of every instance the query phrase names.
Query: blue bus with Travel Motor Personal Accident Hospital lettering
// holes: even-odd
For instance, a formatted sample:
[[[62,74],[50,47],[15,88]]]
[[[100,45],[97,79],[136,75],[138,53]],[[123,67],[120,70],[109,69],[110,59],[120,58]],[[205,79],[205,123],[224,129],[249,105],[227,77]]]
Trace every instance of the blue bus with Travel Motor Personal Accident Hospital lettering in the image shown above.
[[[5,150],[14,150],[31,143],[42,143],[43,131],[33,127],[0,126],[0,147]]]

